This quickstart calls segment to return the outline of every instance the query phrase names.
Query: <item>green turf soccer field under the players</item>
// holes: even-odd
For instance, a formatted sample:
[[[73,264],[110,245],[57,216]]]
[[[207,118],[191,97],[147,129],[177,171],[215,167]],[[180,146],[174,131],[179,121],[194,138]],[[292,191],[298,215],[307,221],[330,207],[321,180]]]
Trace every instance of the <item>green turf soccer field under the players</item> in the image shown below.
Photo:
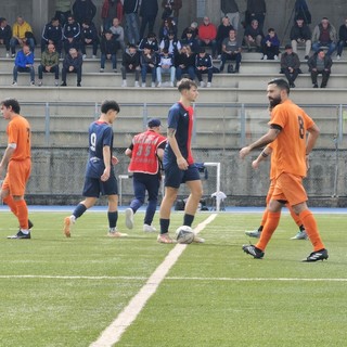
[[[316,215],[330,258],[314,264],[300,262],[311,244],[290,240],[297,227],[287,214],[262,260],[242,250],[258,213],[198,213],[206,243],[188,246],[158,244],[142,231],[143,213],[131,231],[119,214],[127,239],[107,237],[100,211],[65,239],[66,215],[31,213],[33,239],[5,240],[17,222],[0,213],[1,347],[111,346],[116,331],[103,332],[123,311],[121,347],[346,346],[346,215]],[[181,221],[174,213],[171,234]]]

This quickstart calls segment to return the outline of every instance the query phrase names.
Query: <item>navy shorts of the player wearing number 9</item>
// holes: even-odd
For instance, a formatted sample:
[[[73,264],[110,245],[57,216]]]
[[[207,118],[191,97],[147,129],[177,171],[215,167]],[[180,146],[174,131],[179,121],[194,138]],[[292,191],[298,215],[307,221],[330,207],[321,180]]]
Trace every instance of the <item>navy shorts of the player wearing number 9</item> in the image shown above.
[[[114,175],[111,175],[106,182],[99,178],[86,177],[82,195],[86,197],[99,197],[100,195],[117,195],[118,182]]]

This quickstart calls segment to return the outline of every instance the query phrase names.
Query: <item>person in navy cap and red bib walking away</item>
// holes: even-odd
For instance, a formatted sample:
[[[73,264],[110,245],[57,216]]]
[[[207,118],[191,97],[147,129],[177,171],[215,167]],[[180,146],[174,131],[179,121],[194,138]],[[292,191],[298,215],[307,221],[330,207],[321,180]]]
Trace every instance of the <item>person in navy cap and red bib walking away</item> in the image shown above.
[[[147,123],[147,129],[136,134],[125,154],[130,158],[128,171],[132,174],[134,198],[130,207],[126,209],[126,226],[133,228],[133,215],[143,205],[145,192],[149,195],[149,204],[143,220],[144,232],[155,232],[152,226],[158,203],[160,188],[162,159],[166,145],[166,138],[160,134],[160,119],[152,118]]]

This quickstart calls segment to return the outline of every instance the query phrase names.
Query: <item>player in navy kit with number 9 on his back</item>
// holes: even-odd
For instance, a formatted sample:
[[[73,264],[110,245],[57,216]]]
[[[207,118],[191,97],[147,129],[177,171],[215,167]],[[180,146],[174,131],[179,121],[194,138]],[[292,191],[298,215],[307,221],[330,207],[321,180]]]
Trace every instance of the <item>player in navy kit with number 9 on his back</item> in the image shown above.
[[[118,164],[118,159],[112,155],[112,125],[117,118],[119,110],[117,102],[104,101],[101,105],[99,119],[89,126],[89,158],[82,193],[86,198],[76,206],[73,215],[64,219],[66,237],[70,236],[72,224],[95,204],[101,194],[108,197],[108,236],[127,236],[127,234],[117,231],[118,185],[113,166]]]

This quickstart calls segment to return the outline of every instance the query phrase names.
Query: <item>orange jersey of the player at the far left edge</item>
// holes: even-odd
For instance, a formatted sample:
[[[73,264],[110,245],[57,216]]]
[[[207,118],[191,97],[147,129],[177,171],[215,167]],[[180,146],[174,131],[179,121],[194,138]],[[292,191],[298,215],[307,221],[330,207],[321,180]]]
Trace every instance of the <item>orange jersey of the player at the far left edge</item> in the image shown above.
[[[30,125],[21,115],[13,117],[7,128],[8,143],[15,143],[11,160],[24,160],[30,158]]]

